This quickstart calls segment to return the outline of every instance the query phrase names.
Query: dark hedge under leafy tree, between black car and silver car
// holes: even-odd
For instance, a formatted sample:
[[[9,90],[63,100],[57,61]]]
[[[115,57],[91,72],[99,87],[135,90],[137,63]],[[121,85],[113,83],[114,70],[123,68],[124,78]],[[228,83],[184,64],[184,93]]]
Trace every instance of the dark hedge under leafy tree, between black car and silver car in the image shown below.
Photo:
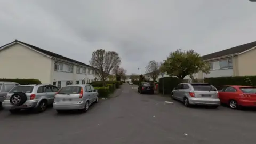
[[[171,94],[173,88],[182,83],[182,80],[176,77],[164,77],[164,94]],[[158,90],[163,93],[163,78],[159,78]]]

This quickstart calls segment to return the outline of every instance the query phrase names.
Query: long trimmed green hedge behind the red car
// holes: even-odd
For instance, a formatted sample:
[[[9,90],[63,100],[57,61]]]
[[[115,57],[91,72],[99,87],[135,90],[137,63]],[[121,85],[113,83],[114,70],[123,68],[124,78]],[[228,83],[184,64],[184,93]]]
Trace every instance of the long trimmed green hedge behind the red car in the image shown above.
[[[244,86],[256,86],[256,76],[233,76],[233,77],[214,77],[205,78],[205,83],[212,84],[214,86],[221,85],[244,85]]]

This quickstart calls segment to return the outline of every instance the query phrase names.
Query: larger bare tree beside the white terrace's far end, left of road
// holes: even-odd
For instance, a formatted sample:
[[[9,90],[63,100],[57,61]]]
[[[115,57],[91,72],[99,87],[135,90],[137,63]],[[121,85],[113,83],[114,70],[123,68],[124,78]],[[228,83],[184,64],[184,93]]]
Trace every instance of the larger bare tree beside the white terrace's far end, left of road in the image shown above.
[[[116,66],[120,65],[121,59],[119,54],[113,51],[105,51],[98,49],[92,53],[92,58],[90,65],[94,68],[95,74],[103,82],[105,86],[105,81]]]

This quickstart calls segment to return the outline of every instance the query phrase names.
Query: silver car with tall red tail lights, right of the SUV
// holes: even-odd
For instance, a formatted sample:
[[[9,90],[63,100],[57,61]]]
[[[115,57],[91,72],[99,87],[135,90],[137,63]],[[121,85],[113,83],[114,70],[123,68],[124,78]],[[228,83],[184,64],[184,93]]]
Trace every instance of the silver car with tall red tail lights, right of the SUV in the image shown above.
[[[74,109],[86,112],[93,102],[98,102],[98,96],[98,91],[88,84],[63,86],[54,97],[53,108],[58,113]]]

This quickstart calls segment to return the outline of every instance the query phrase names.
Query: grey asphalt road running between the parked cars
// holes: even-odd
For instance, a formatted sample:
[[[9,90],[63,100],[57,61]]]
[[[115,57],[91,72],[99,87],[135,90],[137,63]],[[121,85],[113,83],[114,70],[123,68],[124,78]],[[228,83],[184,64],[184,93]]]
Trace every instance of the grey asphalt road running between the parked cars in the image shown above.
[[[84,114],[0,111],[0,143],[255,143],[255,110],[186,108],[170,98],[139,94],[131,85],[122,90]]]

